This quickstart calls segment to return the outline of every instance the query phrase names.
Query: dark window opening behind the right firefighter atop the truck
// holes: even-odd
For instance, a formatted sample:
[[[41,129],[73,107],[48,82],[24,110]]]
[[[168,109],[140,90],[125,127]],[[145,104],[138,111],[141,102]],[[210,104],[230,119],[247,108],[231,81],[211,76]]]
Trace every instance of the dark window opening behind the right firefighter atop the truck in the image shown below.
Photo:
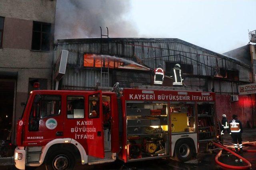
[[[174,68],[175,64],[177,63],[165,62],[165,71],[167,76],[172,76],[173,74],[172,68]],[[183,74],[193,74],[192,64],[180,64],[180,69],[182,70]]]

